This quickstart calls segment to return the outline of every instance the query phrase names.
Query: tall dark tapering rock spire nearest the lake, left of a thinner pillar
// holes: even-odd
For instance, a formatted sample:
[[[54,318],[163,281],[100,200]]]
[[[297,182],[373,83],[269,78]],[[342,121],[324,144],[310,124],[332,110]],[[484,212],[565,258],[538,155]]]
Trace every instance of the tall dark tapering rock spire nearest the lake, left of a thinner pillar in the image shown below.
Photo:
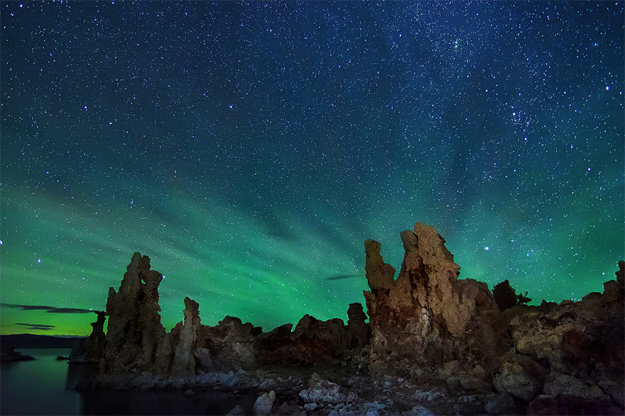
[[[158,305],[163,275],[150,270],[150,259],[135,253],[119,291],[109,289],[107,346],[102,371],[151,371],[165,337]]]

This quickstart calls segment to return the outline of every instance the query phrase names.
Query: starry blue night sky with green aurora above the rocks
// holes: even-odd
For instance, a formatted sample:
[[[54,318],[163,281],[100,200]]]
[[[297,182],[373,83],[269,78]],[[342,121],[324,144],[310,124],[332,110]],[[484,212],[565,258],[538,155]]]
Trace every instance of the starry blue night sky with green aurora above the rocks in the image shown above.
[[[433,225],[540,300],[624,247],[624,3],[4,1],[0,333],[87,335],[134,252],[163,324],[364,304]]]

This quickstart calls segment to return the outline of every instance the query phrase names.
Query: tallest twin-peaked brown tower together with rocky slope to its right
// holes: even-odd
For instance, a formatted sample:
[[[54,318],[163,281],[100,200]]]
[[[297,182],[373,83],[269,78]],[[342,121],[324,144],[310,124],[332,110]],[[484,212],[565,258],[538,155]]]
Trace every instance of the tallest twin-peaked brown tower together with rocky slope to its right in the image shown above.
[[[397,279],[380,244],[365,242],[371,371],[487,393],[489,414],[623,414],[624,262],[604,293],[501,313],[485,283],[457,279],[433,227],[417,223],[401,239]]]

